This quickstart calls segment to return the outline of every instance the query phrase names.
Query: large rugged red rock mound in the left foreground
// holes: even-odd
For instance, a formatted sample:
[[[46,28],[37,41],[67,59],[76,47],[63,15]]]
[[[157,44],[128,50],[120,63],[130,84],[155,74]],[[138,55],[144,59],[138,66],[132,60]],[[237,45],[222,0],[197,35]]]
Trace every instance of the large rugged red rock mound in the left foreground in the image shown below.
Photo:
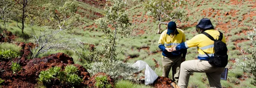
[[[25,46],[26,47],[26,46]],[[22,70],[13,74],[10,69],[11,61],[21,64]],[[87,70],[78,64],[74,64],[73,58],[64,54],[56,53],[42,58],[34,58],[30,60],[19,60],[17,58],[12,59],[11,61],[0,61],[0,68],[3,73],[0,74],[0,77],[5,80],[3,88],[35,88],[37,86],[37,78],[40,74],[40,71],[44,71],[48,68],[59,66],[61,69],[67,64],[73,64],[78,68],[78,76],[83,76],[83,82],[78,88],[82,85],[86,85],[86,81],[89,79],[90,75]],[[48,85],[51,88],[66,88],[68,85],[60,85],[58,80],[54,81],[52,85]]]

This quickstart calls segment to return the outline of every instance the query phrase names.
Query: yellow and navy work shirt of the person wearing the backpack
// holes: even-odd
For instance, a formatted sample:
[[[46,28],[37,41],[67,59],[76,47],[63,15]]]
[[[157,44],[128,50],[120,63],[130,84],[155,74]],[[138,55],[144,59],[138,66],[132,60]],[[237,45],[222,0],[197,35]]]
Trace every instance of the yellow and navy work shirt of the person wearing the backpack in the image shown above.
[[[220,36],[220,33],[214,29],[206,30],[204,31],[211,35],[214,39],[219,39],[218,36]],[[221,40],[222,42],[226,43],[225,36],[223,35],[223,38]],[[198,59],[200,60],[209,60],[209,57],[204,53],[206,52],[211,58],[214,56],[214,41],[209,39],[204,34],[199,34],[193,37],[191,40],[186,41],[185,43],[182,43],[178,46],[176,46],[176,50],[183,49],[183,48],[190,48],[197,46],[198,50]],[[204,52],[203,52],[203,51]]]

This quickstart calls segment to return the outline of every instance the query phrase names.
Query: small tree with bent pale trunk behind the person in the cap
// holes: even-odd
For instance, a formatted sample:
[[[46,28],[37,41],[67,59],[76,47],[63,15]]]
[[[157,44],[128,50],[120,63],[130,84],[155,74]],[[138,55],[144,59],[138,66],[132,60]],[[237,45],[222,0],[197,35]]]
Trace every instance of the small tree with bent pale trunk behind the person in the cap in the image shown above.
[[[180,10],[185,0],[145,0],[144,2],[145,10],[149,11],[147,15],[159,22],[157,34],[161,31],[161,24],[168,24],[165,21],[173,21],[173,19],[181,21],[185,16],[184,11]]]

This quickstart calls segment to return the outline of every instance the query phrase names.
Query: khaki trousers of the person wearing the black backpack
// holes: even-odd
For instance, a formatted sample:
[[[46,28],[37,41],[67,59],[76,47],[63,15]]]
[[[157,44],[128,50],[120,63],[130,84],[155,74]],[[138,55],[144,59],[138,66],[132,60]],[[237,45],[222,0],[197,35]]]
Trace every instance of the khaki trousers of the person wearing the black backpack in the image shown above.
[[[180,88],[187,88],[190,76],[189,72],[205,72],[209,80],[210,88],[222,88],[220,76],[224,69],[225,67],[215,67],[205,60],[184,61],[181,63],[178,86]]]

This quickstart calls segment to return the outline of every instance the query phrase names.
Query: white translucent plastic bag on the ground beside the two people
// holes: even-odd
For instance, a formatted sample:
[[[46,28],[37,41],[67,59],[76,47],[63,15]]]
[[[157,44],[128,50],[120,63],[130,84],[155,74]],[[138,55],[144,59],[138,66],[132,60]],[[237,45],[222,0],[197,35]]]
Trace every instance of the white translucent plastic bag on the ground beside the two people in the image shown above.
[[[145,85],[152,84],[157,79],[158,75],[156,74],[156,72],[154,70],[152,70],[149,67],[149,65],[146,62],[144,62],[142,60],[138,60],[133,65],[139,67],[139,70],[137,72],[146,68],[146,70],[145,70]]]

